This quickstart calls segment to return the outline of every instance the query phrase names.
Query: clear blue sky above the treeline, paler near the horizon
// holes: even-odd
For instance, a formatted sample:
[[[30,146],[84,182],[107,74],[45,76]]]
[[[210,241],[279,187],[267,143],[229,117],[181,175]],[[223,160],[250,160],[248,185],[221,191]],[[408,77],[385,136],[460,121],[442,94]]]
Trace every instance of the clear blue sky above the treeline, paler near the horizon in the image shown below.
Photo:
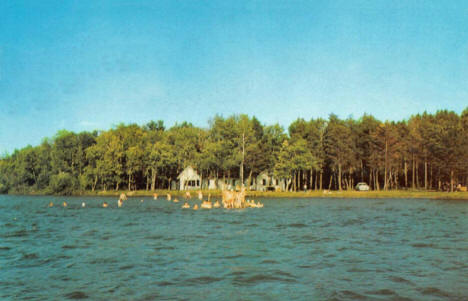
[[[467,1],[3,0],[0,153],[120,122],[460,113],[467,16]]]

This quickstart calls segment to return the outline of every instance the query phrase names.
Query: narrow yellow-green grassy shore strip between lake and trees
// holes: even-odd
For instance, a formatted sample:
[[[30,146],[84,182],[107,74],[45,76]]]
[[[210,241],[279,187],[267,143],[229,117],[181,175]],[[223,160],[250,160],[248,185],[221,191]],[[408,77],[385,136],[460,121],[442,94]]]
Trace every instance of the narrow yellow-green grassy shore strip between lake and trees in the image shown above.
[[[179,190],[108,190],[108,191],[83,191],[76,192],[73,196],[115,196],[119,197],[121,193],[127,194],[129,197],[133,196],[150,196],[158,194],[159,198],[166,197],[170,193],[173,196],[185,196],[186,191]],[[208,194],[212,198],[220,198],[221,190],[202,190],[203,198],[206,199]],[[192,198],[197,198],[197,191],[191,191]],[[27,193],[12,193],[11,195],[50,195],[46,191],[31,191]],[[270,197],[270,198],[412,198],[412,199],[442,199],[442,200],[468,200],[468,192],[442,192],[442,191],[425,191],[425,190],[388,190],[388,191],[337,191],[337,190],[311,190],[311,191],[297,191],[297,192],[276,192],[276,191],[247,191],[248,198],[256,197]]]

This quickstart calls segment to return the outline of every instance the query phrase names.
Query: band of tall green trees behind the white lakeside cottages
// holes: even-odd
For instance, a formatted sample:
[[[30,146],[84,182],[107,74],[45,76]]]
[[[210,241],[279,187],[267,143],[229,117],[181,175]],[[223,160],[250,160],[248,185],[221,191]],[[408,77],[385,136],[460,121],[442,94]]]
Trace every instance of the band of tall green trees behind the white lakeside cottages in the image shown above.
[[[164,122],[105,131],[59,131],[0,158],[0,193],[170,189],[187,166],[203,177],[249,183],[267,171],[288,191],[353,189],[453,191],[468,182],[468,107],[402,121],[297,119],[285,130],[256,117],[217,115],[207,128]]]

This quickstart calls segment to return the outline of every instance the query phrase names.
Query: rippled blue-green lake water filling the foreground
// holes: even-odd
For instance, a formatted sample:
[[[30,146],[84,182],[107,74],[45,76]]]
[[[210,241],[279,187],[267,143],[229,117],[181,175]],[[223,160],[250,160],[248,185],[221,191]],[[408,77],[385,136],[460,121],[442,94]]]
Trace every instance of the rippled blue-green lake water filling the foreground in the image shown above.
[[[0,299],[468,299],[468,202],[261,201],[0,196]]]

